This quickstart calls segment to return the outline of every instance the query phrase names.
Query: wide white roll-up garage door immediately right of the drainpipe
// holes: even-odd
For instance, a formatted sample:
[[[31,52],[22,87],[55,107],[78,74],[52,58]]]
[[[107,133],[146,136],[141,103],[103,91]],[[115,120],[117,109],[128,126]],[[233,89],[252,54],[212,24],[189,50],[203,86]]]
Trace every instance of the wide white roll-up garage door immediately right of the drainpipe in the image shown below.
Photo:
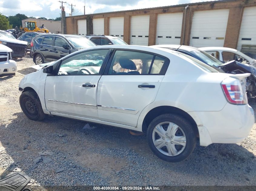
[[[192,19],[190,46],[223,46],[229,9],[195,11]]]

